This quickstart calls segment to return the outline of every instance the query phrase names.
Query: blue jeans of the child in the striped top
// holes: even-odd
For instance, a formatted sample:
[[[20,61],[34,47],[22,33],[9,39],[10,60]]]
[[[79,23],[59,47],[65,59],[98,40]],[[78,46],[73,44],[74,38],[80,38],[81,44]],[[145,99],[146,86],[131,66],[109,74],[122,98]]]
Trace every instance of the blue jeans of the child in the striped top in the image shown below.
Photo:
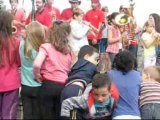
[[[160,104],[149,103],[141,107],[141,118],[144,120],[160,119]]]

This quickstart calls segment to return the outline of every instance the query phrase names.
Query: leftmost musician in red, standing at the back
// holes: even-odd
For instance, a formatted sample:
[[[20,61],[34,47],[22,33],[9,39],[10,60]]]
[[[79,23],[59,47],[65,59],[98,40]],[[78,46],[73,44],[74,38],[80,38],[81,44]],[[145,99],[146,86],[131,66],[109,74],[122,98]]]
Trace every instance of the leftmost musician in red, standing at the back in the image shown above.
[[[15,37],[20,39],[22,36],[22,29],[25,27],[25,10],[23,8],[18,9],[18,0],[9,0],[11,10],[9,12],[13,15],[13,26],[17,31]]]

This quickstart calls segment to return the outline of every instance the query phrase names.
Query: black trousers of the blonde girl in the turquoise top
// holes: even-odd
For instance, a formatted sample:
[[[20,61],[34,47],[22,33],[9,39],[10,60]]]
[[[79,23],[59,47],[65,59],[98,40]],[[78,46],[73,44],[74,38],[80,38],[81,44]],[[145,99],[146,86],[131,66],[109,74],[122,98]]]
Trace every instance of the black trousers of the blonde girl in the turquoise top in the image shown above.
[[[40,119],[39,90],[40,87],[22,85],[21,99],[24,119]]]

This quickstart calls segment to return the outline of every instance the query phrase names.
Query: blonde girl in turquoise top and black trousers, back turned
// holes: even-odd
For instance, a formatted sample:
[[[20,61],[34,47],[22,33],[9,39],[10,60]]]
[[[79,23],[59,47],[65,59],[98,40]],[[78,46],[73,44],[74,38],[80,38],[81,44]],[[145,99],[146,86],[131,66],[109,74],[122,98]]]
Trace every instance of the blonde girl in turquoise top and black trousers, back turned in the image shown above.
[[[44,43],[45,30],[38,22],[31,22],[26,28],[26,39],[20,42],[21,58],[21,98],[24,119],[38,119],[39,113],[39,89],[41,83],[34,80],[33,61],[38,49]]]

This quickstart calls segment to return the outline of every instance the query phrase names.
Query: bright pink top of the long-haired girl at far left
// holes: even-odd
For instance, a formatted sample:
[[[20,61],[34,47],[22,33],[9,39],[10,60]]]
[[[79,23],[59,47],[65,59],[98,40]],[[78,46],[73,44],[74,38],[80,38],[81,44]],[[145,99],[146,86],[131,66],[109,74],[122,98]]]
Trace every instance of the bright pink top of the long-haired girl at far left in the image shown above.
[[[19,41],[13,40],[15,48],[10,43],[10,61],[8,63],[6,56],[6,49],[3,46],[2,53],[4,58],[4,65],[0,65],[0,92],[18,89],[21,85],[20,82],[20,56],[19,56]]]

